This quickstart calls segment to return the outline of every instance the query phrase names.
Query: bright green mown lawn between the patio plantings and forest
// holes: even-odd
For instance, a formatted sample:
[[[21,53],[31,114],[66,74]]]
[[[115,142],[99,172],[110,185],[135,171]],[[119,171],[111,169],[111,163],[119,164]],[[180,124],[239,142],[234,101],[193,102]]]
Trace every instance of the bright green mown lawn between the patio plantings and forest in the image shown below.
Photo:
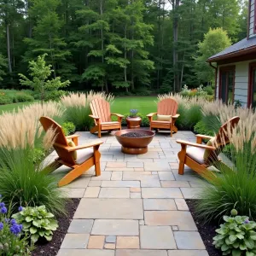
[[[140,113],[148,114],[156,112],[155,96],[126,96],[115,97],[111,106],[112,113],[129,113],[131,108],[137,108]],[[0,113],[3,111],[13,111],[20,107],[31,104],[32,102],[20,102],[0,106]]]

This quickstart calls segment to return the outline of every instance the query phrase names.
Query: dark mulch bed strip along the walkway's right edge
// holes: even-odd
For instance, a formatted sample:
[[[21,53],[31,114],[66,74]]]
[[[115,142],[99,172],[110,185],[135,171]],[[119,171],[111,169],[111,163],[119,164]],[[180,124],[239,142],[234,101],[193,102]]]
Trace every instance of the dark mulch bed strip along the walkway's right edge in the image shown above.
[[[201,235],[202,241],[204,241],[205,246],[207,247],[207,252],[209,256],[221,256],[222,253],[220,250],[216,249],[212,245],[212,238],[216,236],[215,230],[218,229],[218,223],[207,223],[203,224],[201,219],[199,219],[195,213],[195,199],[186,199],[187,205],[189,207],[189,211],[192,214],[192,217],[195,220],[196,227]]]

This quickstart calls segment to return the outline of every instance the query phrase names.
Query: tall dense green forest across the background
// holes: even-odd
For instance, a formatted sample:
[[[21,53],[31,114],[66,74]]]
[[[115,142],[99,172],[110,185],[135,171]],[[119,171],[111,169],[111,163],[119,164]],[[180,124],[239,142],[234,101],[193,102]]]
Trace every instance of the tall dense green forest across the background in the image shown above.
[[[246,37],[244,0],[0,0],[0,86],[46,53],[53,76],[73,90],[179,91],[202,77],[199,43],[222,27]]]

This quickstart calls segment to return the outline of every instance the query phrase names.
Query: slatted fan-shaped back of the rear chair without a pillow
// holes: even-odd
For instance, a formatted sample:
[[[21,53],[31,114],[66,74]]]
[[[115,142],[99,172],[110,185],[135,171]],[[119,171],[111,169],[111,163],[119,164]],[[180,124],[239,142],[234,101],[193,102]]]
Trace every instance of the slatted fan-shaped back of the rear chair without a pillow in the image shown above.
[[[92,115],[99,117],[101,122],[111,122],[110,104],[103,99],[95,99],[90,102]]]

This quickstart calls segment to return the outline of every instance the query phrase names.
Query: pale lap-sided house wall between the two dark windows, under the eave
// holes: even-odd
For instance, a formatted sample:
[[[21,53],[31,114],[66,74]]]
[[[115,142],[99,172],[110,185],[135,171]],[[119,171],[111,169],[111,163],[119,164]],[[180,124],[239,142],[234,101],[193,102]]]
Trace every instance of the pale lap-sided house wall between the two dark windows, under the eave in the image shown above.
[[[247,106],[247,93],[248,93],[248,81],[249,81],[249,63],[254,61],[241,61],[231,63],[227,65],[218,66],[218,77],[216,84],[216,98],[218,98],[218,84],[219,84],[219,67],[225,67],[230,65],[236,66],[235,73],[235,96],[234,101],[239,100],[244,106]]]

